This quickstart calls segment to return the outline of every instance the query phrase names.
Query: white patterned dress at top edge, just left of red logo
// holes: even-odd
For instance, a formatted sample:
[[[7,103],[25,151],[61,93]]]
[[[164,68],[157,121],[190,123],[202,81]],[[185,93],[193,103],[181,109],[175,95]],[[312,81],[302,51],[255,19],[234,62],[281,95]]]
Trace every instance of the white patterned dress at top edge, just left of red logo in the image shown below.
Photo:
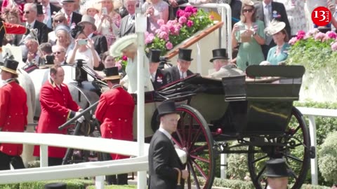
[[[275,2],[283,3],[288,15],[289,24],[291,27],[291,36],[296,35],[297,31],[307,29],[307,20],[305,20],[304,0],[274,0]],[[322,1],[322,0],[320,0]]]

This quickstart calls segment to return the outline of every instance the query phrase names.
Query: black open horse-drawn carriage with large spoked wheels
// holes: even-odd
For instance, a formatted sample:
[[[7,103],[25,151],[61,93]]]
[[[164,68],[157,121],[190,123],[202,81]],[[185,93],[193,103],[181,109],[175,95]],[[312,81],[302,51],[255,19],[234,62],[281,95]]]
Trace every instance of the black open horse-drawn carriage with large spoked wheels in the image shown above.
[[[99,80],[92,71],[84,70]],[[159,127],[157,106],[174,100],[181,118],[173,139],[187,153],[188,188],[212,187],[219,153],[247,153],[256,188],[263,188],[265,161],[284,158],[291,170],[291,188],[300,188],[310,158],[315,157],[305,120],[293,107],[304,71],[303,66],[249,66],[248,80],[246,76],[217,80],[197,73],[145,92],[145,136],[151,137]],[[136,102],[136,94],[133,97]],[[85,113],[94,108],[95,104]],[[136,133],[136,112],[134,115]]]

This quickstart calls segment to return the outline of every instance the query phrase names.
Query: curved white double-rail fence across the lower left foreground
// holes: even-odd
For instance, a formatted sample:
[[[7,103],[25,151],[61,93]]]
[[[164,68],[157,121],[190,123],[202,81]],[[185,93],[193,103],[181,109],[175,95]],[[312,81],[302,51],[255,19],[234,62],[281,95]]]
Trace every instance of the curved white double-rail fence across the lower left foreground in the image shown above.
[[[41,148],[41,165],[48,165],[48,158],[43,159],[43,157],[48,157],[47,146],[76,148],[87,151],[118,153],[131,156],[138,155],[138,144],[136,142],[63,134],[0,132],[0,143],[32,144],[44,146]],[[96,188],[103,188],[103,175],[147,171],[147,153],[149,146],[149,144],[145,144],[145,155],[136,158],[1,171],[0,183],[21,183],[28,181],[75,179],[80,177],[96,176]],[[179,149],[176,149],[176,151],[180,157],[180,160],[182,160],[182,162],[186,162],[187,156],[185,151],[181,151]]]

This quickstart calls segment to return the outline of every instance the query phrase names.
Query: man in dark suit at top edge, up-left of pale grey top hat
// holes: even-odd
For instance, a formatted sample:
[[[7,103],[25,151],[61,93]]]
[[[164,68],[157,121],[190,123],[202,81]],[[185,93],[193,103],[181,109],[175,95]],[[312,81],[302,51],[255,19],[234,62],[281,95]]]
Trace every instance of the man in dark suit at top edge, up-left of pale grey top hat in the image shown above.
[[[74,12],[74,3],[74,0],[61,1],[62,9],[60,11],[65,14],[68,27],[72,27],[73,24],[77,25],[79,22],[81,22],[82,19],[81,14]]]

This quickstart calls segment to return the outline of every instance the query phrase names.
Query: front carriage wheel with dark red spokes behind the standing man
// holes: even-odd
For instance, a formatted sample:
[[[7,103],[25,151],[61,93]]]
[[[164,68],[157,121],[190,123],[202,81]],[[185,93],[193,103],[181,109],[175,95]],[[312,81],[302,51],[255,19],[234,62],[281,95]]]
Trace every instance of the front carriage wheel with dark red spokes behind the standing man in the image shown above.
[[[190,177],[187,186],[211,188],[214,180],[215,160],[213,137],[199,111],[185,104],[178,106],[180,120],[173,140],[187,153],[187,169]]]

